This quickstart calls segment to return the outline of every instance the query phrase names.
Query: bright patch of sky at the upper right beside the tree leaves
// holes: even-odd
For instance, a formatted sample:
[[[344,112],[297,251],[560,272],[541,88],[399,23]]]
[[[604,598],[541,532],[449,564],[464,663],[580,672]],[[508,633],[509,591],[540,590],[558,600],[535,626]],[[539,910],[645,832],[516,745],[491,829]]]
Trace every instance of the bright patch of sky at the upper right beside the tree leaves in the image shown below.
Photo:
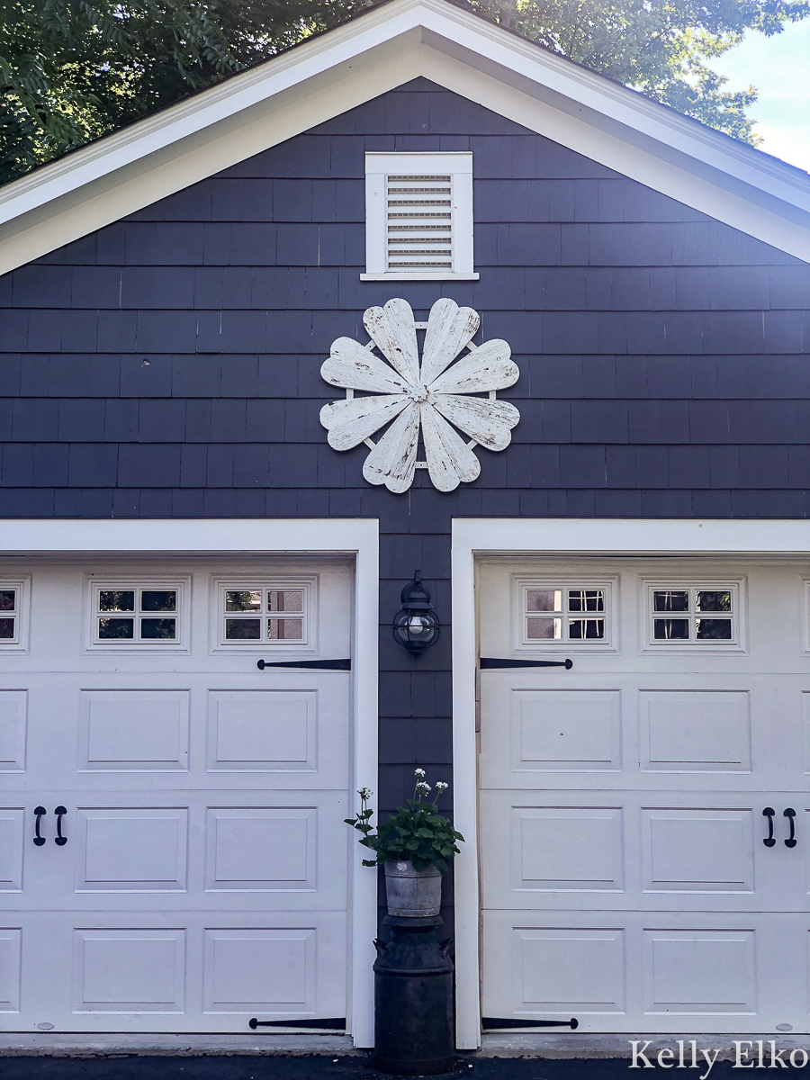
[[[764,139],[759,149],[810,172],[810,18],[772,38],[748,32],[710,66],[728,76],[725,90],[759,89],[747,110]]]

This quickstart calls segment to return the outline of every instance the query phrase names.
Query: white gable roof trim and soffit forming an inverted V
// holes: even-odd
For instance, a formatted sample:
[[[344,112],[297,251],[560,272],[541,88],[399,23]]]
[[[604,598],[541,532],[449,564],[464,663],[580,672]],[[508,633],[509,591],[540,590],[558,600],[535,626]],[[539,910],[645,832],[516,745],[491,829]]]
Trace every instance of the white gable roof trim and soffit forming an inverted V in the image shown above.
[[[0,273],[418,76],[810,262],[810,176],[446,0],[391,0],[0,189]]]

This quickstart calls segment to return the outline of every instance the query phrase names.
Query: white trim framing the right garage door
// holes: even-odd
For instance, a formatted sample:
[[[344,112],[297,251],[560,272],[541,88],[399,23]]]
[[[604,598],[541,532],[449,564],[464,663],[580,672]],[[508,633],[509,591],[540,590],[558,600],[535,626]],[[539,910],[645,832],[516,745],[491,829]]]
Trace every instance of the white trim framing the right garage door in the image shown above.
[[[805,554],[810,522],[691,518],[463,518],[453,522],[454,818],[467,842],[456,860],[456,1025],[459,1049],[481,1043],[474,557],[482,553]]]

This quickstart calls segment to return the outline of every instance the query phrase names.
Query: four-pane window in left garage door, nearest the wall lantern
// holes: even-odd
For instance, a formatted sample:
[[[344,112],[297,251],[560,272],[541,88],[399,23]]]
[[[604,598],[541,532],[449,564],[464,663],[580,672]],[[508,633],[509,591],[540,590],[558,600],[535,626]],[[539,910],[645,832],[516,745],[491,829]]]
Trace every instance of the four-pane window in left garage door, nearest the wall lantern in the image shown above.
[[[224,578],[215,597],[216,649],[313,650],[313,578]]]

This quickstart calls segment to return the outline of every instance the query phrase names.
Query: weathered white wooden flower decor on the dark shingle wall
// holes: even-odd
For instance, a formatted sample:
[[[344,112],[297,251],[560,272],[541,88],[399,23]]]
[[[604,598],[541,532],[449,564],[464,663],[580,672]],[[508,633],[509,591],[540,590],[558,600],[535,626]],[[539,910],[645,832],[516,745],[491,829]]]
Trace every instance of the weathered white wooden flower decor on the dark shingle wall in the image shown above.
[[[509,402],[498,401],[496,392],[516,382],[519,372],[505,341],[472,343],[480,322],[472,308],[459,308],[447,298],[436,300],[420,364],[416,332],[424,324],[414,321],[406,300],[394,299],[384,308],[368,308],[363,315],[372,338],[368,345],[347,337],[333,342],[321,375],[346,390],[346,401],[324,405],[321,423],[336,450],[361,443],[370,447],[363,465],[369,484],[384,484],[389,491],[402,494],[413,484],[415,470],[427,468],[440,491],[453,491],[481,472],[473,447],[509,446],[521,414]],[[469,351],[460,356],[464,349]],[[356,390],[368,394],[356,397]],[[481,394],[487,396],[470,396]],[[372,442],[370,436],[388,423],[391,427],[379,442]],[[417,461],[420,429],[426,461]]]

